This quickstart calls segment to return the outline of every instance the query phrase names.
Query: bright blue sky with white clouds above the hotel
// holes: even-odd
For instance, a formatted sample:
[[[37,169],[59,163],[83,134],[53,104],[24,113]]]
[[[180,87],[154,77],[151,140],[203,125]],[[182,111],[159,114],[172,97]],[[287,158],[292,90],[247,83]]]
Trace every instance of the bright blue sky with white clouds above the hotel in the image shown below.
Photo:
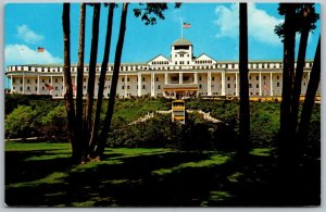
[[[184,29],[184,38],[190,40],[195,55],[206,53],[216,61],[238,61],[238,3],[183,3],[174,9],[168,4],[165,20],[156,25],[145,25],[135,17],[131,3],[128,8],[127,29],[122,62],[148,62],[159,54],[170,57],[171,45],[181,37],[181,23],[191,25]],[[281,60],[283,43],[274,34],[275,25],[284,21],[277,13],[277,3],[248,3],[249,60]],[[114,61],[122,5],[114,12],[113,37],[110,63]],[[319,4],[316,4],[319,13]],[[8,3],[4,7],[4,65],[14,64],[62,64],[62,3]],[[98,62],[102,61],[106,34],[108,8],[101,7]],[[89,61],[92,7],[86,14],[85,62]],[[79,4],[71,8],[71,50],[72,63],[77,63],[79,32]],[[321,21],[310,34],[306,59],[313,60]],[[297,52],[300,35],[297,36]],[[37,47],[45,52],[37,52]],[[8,87],[8,82],[5,84]]]

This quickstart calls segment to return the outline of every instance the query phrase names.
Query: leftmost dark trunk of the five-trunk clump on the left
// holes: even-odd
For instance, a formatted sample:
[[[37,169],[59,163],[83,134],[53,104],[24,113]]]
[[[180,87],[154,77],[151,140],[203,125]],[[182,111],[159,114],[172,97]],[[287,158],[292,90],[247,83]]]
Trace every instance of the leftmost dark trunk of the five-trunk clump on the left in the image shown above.
[[[67,113],[68,130],[71,137],[71,144],[73,149],[72,160],[73,163],[80,163],[80,149],[76,141],[76,128],[75,128],[75,108],[73,99],[73,86],[71,76],[71,4],[63,3],[62,11],[62,26],[63,26],[63,54],[64,54],[64,84],[65,84],[65,108]]]

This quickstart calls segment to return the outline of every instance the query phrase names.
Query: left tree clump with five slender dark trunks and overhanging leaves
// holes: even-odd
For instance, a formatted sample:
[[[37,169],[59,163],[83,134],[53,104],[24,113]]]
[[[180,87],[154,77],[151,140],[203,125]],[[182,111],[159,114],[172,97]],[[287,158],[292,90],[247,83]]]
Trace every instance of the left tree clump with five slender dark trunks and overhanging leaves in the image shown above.
[[[155,24],[156,20],[151,14],[159,16],[160,18],[164,20],[164,11],[167,9],[166,3],[139,3],[141,5],[139,9],[135,9],[134,13],[136,16],[141,16],[141,20],[145,21],[146,25],[148,24]],[[146,5],[146,7],[143,7]],[[175,4],[176,8],[180,7],[180,3]],[[67,111],[67,120],[68,120],[68,128],[71,135],[71,141],[73,147],[73,161],[75,163],[84,163],[88,161],[89,158],[100,158],[97,155],[101,155],[104,151],[104,147],[108,139],[108,133],[110,130],[111,120],[113,115],[113,108],[114,108],[114,100],[115,100],[115,92],[116,92],[116,85],[121,65],[121,57],[123,51],[123,43],[126,30],[126,15],[127,15],[127,7],[128,3],[123,4],[123,12],[122,12],[122,21],[121,21],[121,28],[120,28],[120,36],[118,42],[115,49],[115,61],[114,61],[114,71],[111,84],[111,91],[110,91],[110,99],[109,105],[106,111],[106,116],[104,121],[104,126],[102,127],[102,133],[100,138],[98,137],[98,129],[99,127],[99,114],[101,111],[101,103],[103,97],[103,89],[104,89],[104,80],[105,80],[105,71],[108,68],[109,62],[109,52],[110,52],[110,43],[111,43],[111,34],[112,29],[112,18],[113,18],[113,9],[115,4],[110,4],[109,8],[109,16],[108,16],[108,32],[105,38],[105,49],[106,52],[103,57],[102,70],[101,70],[101,77],[99,80],[99,90],[98,90],[98,99],[99,102],[97,104],[97,112],[96,119],[92,123],[92,104],[93,104],[93,89],[95,89],[95,76],[96,76],[96,61],[97,61],[97,49],[98,49],[98,34],[99,34],[99,17],[100,17],[100,4],[93,3],[95,11],[93,11],[93,24],[92,24],[92,41],[91,41],[91,53],[90,53],[90,64],[89,64],[89,80],[88,80],[88,90],[87,90],[87,101],[86,101],[86,114],[84,119],[83,127],[80,126],[80,119],[83,119],[83,100],[80,96],[80,91],[78,92],[78,101],[77,101],[77,109],[78,112],[75,115],[74,111],[74,101],[73,101],[73,92],[72,92],[72,78],[71,78],[71,59],[70,59],[70,4],[64,4],[63,10],[63,32],[64,32],[64,76],[65,76],[65,85],[66,85],[66,111]],[[111,13],[111,12],[112,13]],[[83,13],[85,10],[80,8],[80,29],[79,29],[79,57],[78,57],[78,67],[79,72],[83,70],[83,52],[84,52],[84,45],[83,45],[83,36],[85,32],[83,28],[83,23],[85,17],[83,17]],[[85,14],[84,14],[85,15]],[[112,17],[112,18],[111,18]],[[102,72],[103,71],[103,72]],[[83,86],[83,82],[80,83],[79,73],[79,84],[77,85],[77,89],[79,86]],[[80,90],[80,88],[78,89]],[[83,130],[82,130],[83,129]],[[77,137],[76,132],[78,130],[79,137]],[[80,130],[80,132],[79,132]],[[91,134],[90,134],[90,130]],[[90,136],[91,135],[91,136]],[[90,140],[89,140],[90,139]]]

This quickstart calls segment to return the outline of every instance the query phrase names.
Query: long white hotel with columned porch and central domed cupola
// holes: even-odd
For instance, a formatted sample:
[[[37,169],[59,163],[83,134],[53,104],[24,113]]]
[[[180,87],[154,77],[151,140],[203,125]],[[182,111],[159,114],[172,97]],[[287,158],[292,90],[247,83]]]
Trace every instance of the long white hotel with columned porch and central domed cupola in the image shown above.
[[[249,95],[269,97],[281,95],[283,61],[250,61]],[[312,61],[306,61],[301,93],[305,95]],[[99,80],[101,65],[96,68]],[[84,67],[84,95],[87,92],[89,67]],[[77,66],[71,67],[73,85],[77,82]],[[24,95],[64,96],[63,65],[12,65],[7,68],[12,82],[11,92]],[[108,97],[113,64],[108,65],[104,97]],[[47,85],[53,89],[47,89]],[[97,93],[96,83],[96,93]],[[239,63],[216,61],[205,53],[193,55],[192,43],[180,38],[173,42],[171,55],[156,55],[146,63],[122,63],[117,84],[118,97],[163,96],[181,98],[189,96],[239,96]],[[76,91],[74,91],[76,95]]]

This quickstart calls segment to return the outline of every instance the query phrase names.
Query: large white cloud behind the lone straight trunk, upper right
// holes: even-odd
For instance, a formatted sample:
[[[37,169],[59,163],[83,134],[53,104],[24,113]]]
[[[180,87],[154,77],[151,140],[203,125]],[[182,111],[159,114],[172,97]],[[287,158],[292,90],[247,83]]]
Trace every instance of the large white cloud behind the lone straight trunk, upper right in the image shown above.
[[[216,37],[238,38],[239,36],[239,4],[231,4],[229,8],[216,7],[215,13],[218,26]],[[254,3],[248,3],[248,35],[251,39],[268,45],[280,45],[280,39],[274,33],[275,25],[281,23],[264,10],[255,8]]]

